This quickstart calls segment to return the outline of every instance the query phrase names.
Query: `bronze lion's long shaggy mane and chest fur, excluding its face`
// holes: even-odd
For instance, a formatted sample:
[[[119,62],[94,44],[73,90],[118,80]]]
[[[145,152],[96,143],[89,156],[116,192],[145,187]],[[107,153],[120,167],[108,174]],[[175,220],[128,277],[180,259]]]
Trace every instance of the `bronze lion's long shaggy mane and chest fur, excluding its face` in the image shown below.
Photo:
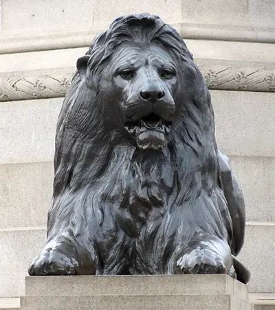
[[[162,152],[145,152],[129,142],[112,125],[119,120],[111,118],[111,106],[102,100],[100,73],[114,49],[127,40],[157,43],[180,64],[186,97]],[[121,273],[118,261],[133,249],[133,273],[169,272],[173,245],[180,244],[183,235],[188,241],[198,230],[208,230],[231,245],[232,222],[219,184],[210,93],[181,36],[157,16],[122,16],[94,39],[87,55],[89,84],[74,75],[58,119],[49,237],[68,223],[74,223],[74,235],[93,230],[94,223],[117,230],[108,242],[113,248],[129,246],[125,252],[102,253],[105,274]],[[89,239],[96,233],[91,231]],[[131,243],[137,236],[139,241]],[[144,260],[151,264],[142,267]],[[154,265],[158,267],[152,270]]]

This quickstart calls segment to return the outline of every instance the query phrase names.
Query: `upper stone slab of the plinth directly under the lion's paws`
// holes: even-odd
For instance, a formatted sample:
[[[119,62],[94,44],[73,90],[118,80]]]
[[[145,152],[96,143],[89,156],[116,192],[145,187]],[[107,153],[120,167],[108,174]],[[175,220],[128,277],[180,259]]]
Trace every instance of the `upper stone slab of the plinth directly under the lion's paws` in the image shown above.
[[[229,294],[248,300],[248,289],[224,274],[156,276],[27,276],[26,296],[162,296]],[[104,287],[104,290],[102,290]]]

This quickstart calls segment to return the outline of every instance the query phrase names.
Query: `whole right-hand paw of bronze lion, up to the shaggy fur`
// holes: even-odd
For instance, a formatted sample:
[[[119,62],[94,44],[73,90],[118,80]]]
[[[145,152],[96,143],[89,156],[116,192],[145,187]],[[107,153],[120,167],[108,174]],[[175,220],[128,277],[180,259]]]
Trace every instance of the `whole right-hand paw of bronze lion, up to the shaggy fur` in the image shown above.
[[[171,274],[230,274],[234,276],[227,241],[197,233],[191,241],[177,246],[170,261]]]

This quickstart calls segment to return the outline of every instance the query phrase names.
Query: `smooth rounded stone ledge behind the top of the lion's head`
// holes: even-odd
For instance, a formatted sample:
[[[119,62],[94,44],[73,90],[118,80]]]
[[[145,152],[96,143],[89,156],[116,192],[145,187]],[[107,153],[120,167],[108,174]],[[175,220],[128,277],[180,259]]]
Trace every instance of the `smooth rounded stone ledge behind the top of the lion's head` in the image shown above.
[[[170,23],[170,25],[175,27],[183,38],[275,43],[274,28],[195,23]],[[86,32],[45,34],[45,36],[28,32],[24,35],[2,32],[0,34],[0,54],[88,47],[94,36],[103,31],[104,29],[94,29]]]

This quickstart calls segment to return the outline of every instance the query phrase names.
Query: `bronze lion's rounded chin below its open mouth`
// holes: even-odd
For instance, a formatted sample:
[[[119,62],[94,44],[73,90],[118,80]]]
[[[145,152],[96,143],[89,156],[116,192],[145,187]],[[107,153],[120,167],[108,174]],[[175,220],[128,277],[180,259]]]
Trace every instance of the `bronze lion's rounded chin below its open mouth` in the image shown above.
[[[142,150],[161,151],[166,147],[167,141],[164,132],[158,130],[145,130],[136,136],[137,147]]]

